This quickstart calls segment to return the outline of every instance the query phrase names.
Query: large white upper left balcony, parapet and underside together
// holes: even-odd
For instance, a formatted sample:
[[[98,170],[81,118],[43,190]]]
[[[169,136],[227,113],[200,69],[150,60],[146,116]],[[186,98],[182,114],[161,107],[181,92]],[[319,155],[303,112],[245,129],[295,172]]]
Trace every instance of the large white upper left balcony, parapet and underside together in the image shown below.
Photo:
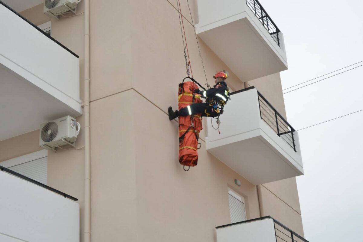
[[[0,140],[82,114],[79,58],[0,4]]]

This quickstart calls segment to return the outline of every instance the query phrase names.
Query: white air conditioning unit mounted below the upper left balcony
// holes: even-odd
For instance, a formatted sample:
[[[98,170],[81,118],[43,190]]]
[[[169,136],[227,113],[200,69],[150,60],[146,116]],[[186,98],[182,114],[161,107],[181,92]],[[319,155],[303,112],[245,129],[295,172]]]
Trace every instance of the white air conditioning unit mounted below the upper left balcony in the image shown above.
[[[62,145],[72,145],[77,139],[81,125],[71,116],[65,116],[40,125],[39,145],[56,151]]]

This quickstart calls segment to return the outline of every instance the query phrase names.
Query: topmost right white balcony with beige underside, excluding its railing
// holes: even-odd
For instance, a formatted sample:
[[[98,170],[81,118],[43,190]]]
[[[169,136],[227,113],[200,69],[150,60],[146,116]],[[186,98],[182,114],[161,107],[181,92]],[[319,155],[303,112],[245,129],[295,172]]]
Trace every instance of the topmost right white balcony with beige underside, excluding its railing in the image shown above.
[[[280,46],[245,0],[198,0],[197,35],[241,81],[287,69],[284,37]]]

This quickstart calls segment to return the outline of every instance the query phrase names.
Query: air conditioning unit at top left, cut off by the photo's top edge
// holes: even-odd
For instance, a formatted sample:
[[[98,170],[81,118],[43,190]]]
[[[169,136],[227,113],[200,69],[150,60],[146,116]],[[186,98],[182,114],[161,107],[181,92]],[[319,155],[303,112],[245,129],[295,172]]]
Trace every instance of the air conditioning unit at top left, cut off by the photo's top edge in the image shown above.
[[[62,13],[72,11],[76,14],[77,4],[81,0],[45,0],[44,13],[50,18],[59,19],[58,16]]]

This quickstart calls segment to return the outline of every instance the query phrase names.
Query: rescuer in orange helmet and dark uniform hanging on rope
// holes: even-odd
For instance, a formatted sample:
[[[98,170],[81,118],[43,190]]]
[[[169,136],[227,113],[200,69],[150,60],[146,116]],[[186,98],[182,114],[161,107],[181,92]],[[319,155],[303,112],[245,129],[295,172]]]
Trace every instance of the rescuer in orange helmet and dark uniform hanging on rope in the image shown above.
[[[187,107],[181,108],[179,111],[173,111],[172,107],[168,108],[169,119],[175,119],[179,116],[188,116],[201,113],[202,117],[218,117],[223,113],[224,105],[229,99],[229,89],[225,79],[227,74],[220,71],[213,76],[216,85],[213,88],[200,91],[195,89],[194,93],[200,94],[201,98],[205,98],[205,103],[192,103]]]

